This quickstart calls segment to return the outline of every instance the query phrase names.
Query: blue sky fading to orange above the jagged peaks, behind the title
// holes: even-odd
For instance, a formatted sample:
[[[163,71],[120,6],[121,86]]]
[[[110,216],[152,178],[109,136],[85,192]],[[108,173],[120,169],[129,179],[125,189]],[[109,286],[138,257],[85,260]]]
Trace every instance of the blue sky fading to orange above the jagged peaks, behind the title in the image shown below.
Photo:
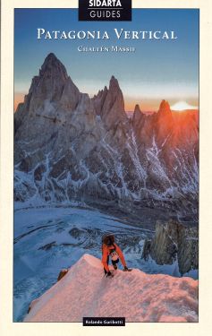
[[[23,100],[33,76],[53,52],[72,81],[90,97],[114,75],[125,109],[157,110],[162,99],[199,105],[199,10],[133,9],[131,22],[78,22],[78,9],[15,9],[14,105]],[[37,39],[37,29],[107,30],[110,39]],[[175,30],[178,39],[114,38],[124,30]],[[79,46],[135,47],[134,53],[82,53]]]

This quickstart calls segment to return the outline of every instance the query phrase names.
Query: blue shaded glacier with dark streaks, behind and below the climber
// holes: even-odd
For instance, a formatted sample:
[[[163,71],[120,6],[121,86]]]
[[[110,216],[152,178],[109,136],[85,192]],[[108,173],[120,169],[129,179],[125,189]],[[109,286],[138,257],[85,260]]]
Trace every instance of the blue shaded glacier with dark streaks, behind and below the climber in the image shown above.
[[[148,210],[149,213],[151,211]],[[149,213],[146,214],[147,217]],[[193,263],[195,255],[198,258],[198,242],[191,241],[187,234],[183,234],[183,229],[182,234],[179,231],[180,237],[177,239],[175,227],[165,230],[163,227],[164,225],[158,226],[155,234],[150,223],[148,228],[143,228],[140,221],[135,225],[131,220],[120,220],[89,208],[40,207],[15,211],[14,321],[22,321],[30,302],[55,284],[61,269],[72,269],[72,265],[84,254],[92,254],[101,259],[102,237],[108,232],[114,234],[115,242],[121,247],[129,267],[147,274],[182,277],[180,270],[183,267],[184,271],[188,271],[189,264],[191,271],[183,274],[183,277],[198,279],[198,265]],[[149,240],[155,241],[155,244],[150,244],[148,250]],[[175,244],[176,247],[179,246],[179,258],[174,257]],[[142,255],[145,258],[141,258]],[[118,267],[122,269],[120,263]],[[103,267],[101,270],[103,272]],[[102,275],[103,273],[100,277]]]

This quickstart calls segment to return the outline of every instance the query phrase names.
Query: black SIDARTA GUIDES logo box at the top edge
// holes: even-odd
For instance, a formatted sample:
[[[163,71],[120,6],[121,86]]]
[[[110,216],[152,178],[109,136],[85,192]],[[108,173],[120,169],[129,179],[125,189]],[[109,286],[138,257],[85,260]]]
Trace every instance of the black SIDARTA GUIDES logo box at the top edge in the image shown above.
[[[131,21],[131,0],[79,0],[79,21]]]

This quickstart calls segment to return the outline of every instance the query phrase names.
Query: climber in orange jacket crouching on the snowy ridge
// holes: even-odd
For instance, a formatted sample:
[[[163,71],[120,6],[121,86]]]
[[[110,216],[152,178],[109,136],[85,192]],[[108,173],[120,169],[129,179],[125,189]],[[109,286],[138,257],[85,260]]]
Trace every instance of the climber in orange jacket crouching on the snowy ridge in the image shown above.
[[[107,277],[112,276],[108,267],[109,257],[111,257],[114,270],[117,270],[117,263],[119,263],[120,258],[124,267],[123,271],[128,271],[122,250],[114,243],[114,235],[106,235],[102,238],[102,263]]]

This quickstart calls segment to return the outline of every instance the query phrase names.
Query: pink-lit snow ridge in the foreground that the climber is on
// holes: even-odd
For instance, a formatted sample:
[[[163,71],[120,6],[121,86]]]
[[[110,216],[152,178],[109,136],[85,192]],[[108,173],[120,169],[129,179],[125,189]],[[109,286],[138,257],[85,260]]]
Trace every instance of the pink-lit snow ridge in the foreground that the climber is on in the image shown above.
[[[197,322],[198,280],[148,275],[140,270],[103,275],[84,254],[62,280],[30,305],[24,322],[81,322],[82,317],[123,316],[126,322]]]

